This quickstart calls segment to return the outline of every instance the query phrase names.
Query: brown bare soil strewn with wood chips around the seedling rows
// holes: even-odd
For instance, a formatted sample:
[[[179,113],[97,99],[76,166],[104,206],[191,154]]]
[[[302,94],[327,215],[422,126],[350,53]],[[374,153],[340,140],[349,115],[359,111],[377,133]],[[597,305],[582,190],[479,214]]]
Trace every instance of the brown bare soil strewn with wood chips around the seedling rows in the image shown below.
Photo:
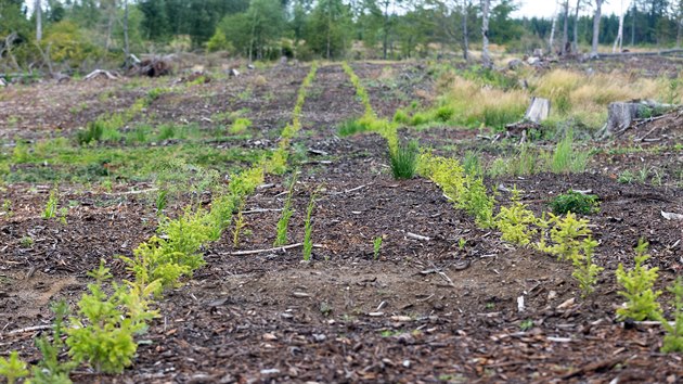
[[[387,88],[382,82],[383,76],[389,76],[386,67],[355,65],[361,78],[376,81],[370,88],[375,108],[390,115],[420,97],[428,82],[412,80],[421,76],[415,65],[391,65],[398,84]],[[259,135],[274,139],[289,118],[306,73],[304,67],[273,68],[215,80],[186,93],[164,95],[150,114],[159,121],[184,118],[208,125],[202,117],[248,107],[247,116],[262,127]],[[106,87],[121,91],[120,85]],[[12,91],[2,103],[28,105],[37,94],[62,94],[65,89],[74,98],[64,101],[65,110],[80,100],[96,99],[92,95],[100,91],[86,82],[34,86]],[[252,98],[240,98],[246,89],[252,89]],[[144,94],[130,91],[126,100],[131,103],[136,92]],[[105,104],[98,107],[114,107]],[[487,180],[489,185],[516,184],[537,214],[547,209],[553,195],[570,188],[592,190],[601,197],[601,210],[590,220],[600,241],[596,263],[605,271],[596,293],[581,299],[567,263],[513,247],[497,232],[477,228],[427,180],[395,181],[379,137],[338,138],[336,126],[362,111],[338,65],[319,69],[304,107],[305,129],[294,146],[324,151],[327,156],[322,162],[311,154],[300,164],[289,225],[291,242],[300,241],[310,195],[322,187],[313,214],[313,241],[320,247],[313,249],[310,263],[301,261],[300,248],[233,255],[272,246],[280,213],[266,209],[282,207],[285,180],[269,177],[272,187],[259,189],[247,201],[246,209],[255,213],[245,215],[247,227],[239,246],[227,232],[205,249],[207,266],[158,302],[160,317],[144,336],[133,367],[115,376],[80,369],[73,379],[82,383],[682,380],[681,355],[659,351],[663,335],[659,327],[624,327],[615,321],[622,298],[614,277],[619,263],[632,265],[632,248],[641,236],[650,242],[650,265],[660,268],[658,287],[681,276],[682,227],[661,216],[661,212],[683,213],[680,183],[672,178],[659,187],[622,184],[614,177],[622,167],[650,162],[674,174],[681,166],[680,150],[647,152],[642,159],[637,154],[605,152],[581,175]],[[20,126],[5,125],[10,115],[17,114]],[[0,115],[5,127],[0,135],[31,137],[25,130],[37,124],[38,116],[26,111]],[[54,116],[44,115],[47,126],[62,124]],[[69,127],[82,124],[79,118],[69,119]],[[661,125],[652,138],[680,143],[681,118],[652,124]],[[647,132],[653,127],[639,129]],[[51,135],[57,133],[43,137]],[[479,142],[477,132],[455,128],[401,135],[422,142]],[[627,145],[628,140],[632,138],[620,138],[616,144]],[[2,355],[18,349],[29,361],[38,359],[33,338],[40,331],[10,331],[49,323],[49,300],[66,298],[74,305],[88,282],[86,272],[101,258],[118,278],[126,277],[112,256],[130,254],[154,232],[156,222],[153,203],[143,195],[123,194],[128,187],[107,194],[75,185],[63,200],[81,204],[72,209],[67,226],[40,218],[49,185],[13,184],[0,193],[15,207],[14,215],[2,216],[0,222]],[[501,193],[499,201],[508,197]],[[415,240],[409,233],[430,240]],[[26,235],[34,238],[31,246],[23,245]],[[372,242],[377,236],[383,238],[383,246],[374,259]],[[463,247],[461,239],[466,240]],[[518,308],[519,297],[524,310]],[[526,320],[532,325],[523,330]]]

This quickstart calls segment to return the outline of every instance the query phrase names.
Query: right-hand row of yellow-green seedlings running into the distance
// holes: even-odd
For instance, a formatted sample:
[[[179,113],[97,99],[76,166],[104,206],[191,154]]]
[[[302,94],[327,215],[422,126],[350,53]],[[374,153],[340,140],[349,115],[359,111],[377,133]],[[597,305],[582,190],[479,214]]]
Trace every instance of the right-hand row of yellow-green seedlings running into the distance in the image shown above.
[[[347,63],[343,66],[356,87],[357,95],[365,106],[365,114],[358,120],[360,128],[356,131],[381,133],[387,140],[389,153],[397,156],[402,151],[398,148],[396,126],[387,129],[386,127],[392,124],[376,118],[360,79]],[[493,194],[487,192],[484,179],[466,172],[458,159],[423,152],[417,156],[415,167],[418,175],[440,187],[455,208],[472,215],[477,226],[499,230],[501,239],[508,243],[532,246],[557,257],[558,260],[570,261],[574,267],[571,276],[579,283],[581,296],[587,297],[594,291],[597,277],[604,268],[593,260],[598,243],[592,238],[588,219],[578,218],[571,212],[564,216],[543,213],[541,217],[537,217],[520,202],[520,192],[516,188],[512,191],[510,206],[501,206],[498,215],[494,215],[495,199]],[[628,300],[626,306],[617,311],[617,316],[621,320],[659,321],[668,333],[662,350],[683,351],[683,279],[679,278],[668,289],[674,296],[672,302],[674,321],[669,322],[656,302],[661,292],[655,292],[653,289],[657,279],[657,268],[647,268],[643,265],[649,258],[646,248],[647,244],[641,242],[636,248],[636,264],[633,270],[624,271],[621,264],[617,270],[617,281],[623,286],[619,294]]]

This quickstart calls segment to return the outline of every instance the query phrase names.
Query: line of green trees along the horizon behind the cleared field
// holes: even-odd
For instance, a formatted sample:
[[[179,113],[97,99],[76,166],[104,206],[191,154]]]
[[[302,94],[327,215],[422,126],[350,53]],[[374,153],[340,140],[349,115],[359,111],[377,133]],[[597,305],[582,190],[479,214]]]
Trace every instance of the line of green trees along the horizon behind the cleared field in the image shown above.
[[[484,42],[485,4],[491,43],[511,52],[549,50],[554,35],[553,50],[560,52],[570,36],[576,35],[579,46],[592,42],[594,11],[603,2],[558,0],[556,17],[547,20],[512,17],[518,8],[514,0],[27,1],[0,0],[0,59],[5,65],[49,57],[78,66],[121,60],[127,49],[227,51],[253,60],[405,59],[453,52],[467,57],[471,43]],[[626,46],[681,43],[683,0],[627,3]],[[611,44],[619,16],[601,15],[598,21],[598,42]]]

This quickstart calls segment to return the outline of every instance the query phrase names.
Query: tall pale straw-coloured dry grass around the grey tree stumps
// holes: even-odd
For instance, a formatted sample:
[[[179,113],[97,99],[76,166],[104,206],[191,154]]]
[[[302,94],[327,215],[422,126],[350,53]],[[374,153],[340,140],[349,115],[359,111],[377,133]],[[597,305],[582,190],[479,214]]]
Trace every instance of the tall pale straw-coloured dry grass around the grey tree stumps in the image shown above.
[[[619,72],[589,75],[555,69],[543,75],[518,73],[517,76],[528,80],[528,89],[511,88],[495,77],[479,81],[444,72],[437,81],[440,94],[437,106],[418,112],[407,121],[415,126],[436,121],[500,129],[519,120],[533,95],[551,100],[551,125],[570,119],[594,129],[605,124],[609,103],[653,99],[675,104],[681,103],[683,95],[683,75],[678,79],[653,79]]]

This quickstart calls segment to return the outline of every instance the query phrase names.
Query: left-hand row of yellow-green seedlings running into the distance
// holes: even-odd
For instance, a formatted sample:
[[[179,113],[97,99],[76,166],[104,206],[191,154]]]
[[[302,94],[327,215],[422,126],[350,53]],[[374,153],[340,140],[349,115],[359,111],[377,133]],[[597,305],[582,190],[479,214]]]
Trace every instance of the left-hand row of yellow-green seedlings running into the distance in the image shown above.
[[[102,373],[120,373],[131,366],[138,349],[136,336],[144,334],[149,322],[158,317],[158,310],[152,309],[154,299],[167,289],[181,286],[183,279],[192,278],[206,264],[202,249],[221,238],[233,213],[263,182],[266,171],[286,166],[286,156],[283,164],[278,153],[287,150],[288,140],[300,128],[306,89],[315,71],[314,64],[299,89],[294,121],[285,128],[289,132],[283,131],[286,144],[281,144],[270,158],[234,175],[225,193],[211,201],[210,209],[190,205],[178,218],[163,218],[158,235],[140,244],[131,257],[120,256],[133,279],[114,282],[101,260],[100,267],[88,273],[94,282],[88,284],[74,316],[66,320],[66,303],[53,306],[52,337],[36,341],[42,359],[29,371],[13,351],[9,359],[0,358],[0,376],[9,383],[27,376],[30,383],[70,383],[69,373],[82,362]],[[60,360],[64,349],[67,361]]]

